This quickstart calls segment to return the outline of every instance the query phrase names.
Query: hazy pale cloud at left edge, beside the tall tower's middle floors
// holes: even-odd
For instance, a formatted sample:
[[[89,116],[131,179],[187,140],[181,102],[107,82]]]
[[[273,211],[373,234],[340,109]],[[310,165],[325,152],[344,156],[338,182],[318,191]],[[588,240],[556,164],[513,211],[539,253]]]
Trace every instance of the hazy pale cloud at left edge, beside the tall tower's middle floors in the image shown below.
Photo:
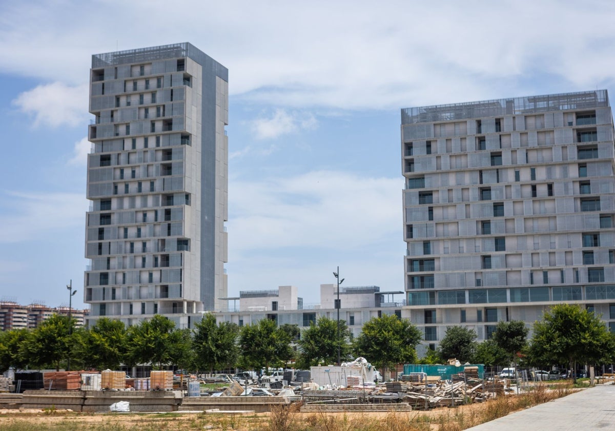
[[[83,229],[88,203],[81,193],[5,192],[0,243],[43,240],[58,229]]]

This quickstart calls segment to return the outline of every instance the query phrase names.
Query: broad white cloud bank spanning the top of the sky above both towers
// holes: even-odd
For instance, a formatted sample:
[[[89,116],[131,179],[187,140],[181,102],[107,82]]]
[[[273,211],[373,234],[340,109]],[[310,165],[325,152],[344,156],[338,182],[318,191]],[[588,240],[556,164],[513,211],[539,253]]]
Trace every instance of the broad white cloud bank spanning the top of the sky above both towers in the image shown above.
[[[0,5],[1,71],[84,82],[91,53],[189,39],[228,66],[231,95],[277,106],[389,109],[615,82],[609,1],[32,3]],[[143,7],[149,19],[133,20]]]

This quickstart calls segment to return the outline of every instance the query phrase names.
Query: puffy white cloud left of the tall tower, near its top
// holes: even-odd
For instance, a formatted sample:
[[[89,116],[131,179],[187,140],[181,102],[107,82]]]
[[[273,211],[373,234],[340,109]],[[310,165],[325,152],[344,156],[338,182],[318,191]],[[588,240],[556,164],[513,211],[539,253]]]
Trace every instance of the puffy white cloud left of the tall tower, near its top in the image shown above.
[[[34,127],[74,127],[87,121],[87,97],[87,85],[73,87],[52,82],[21,93],[12,103],[23,113],[34,116]]]

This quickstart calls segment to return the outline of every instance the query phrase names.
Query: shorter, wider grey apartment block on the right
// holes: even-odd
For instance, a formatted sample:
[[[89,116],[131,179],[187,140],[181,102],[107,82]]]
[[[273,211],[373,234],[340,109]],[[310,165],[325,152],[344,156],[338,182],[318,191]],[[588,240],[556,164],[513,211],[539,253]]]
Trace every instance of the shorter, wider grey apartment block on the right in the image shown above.
[[[615,329],[606,90],[402,109],[405,290],[425,345],[583,304]],[[419,352],[421,353],[421,352]]]

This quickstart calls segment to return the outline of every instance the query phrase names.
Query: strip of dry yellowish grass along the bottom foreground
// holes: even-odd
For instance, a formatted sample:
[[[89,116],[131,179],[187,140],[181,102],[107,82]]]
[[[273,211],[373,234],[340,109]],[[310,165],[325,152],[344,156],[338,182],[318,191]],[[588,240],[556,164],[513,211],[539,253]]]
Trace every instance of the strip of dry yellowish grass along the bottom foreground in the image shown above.
[[[2,431],[461,431],[573,392],[572,387],[536,386],[523,395],[506,395],[482,404],[432,411],[391,413],[300,413],[293,404],[271,414],[50,414],[0,415]]]

